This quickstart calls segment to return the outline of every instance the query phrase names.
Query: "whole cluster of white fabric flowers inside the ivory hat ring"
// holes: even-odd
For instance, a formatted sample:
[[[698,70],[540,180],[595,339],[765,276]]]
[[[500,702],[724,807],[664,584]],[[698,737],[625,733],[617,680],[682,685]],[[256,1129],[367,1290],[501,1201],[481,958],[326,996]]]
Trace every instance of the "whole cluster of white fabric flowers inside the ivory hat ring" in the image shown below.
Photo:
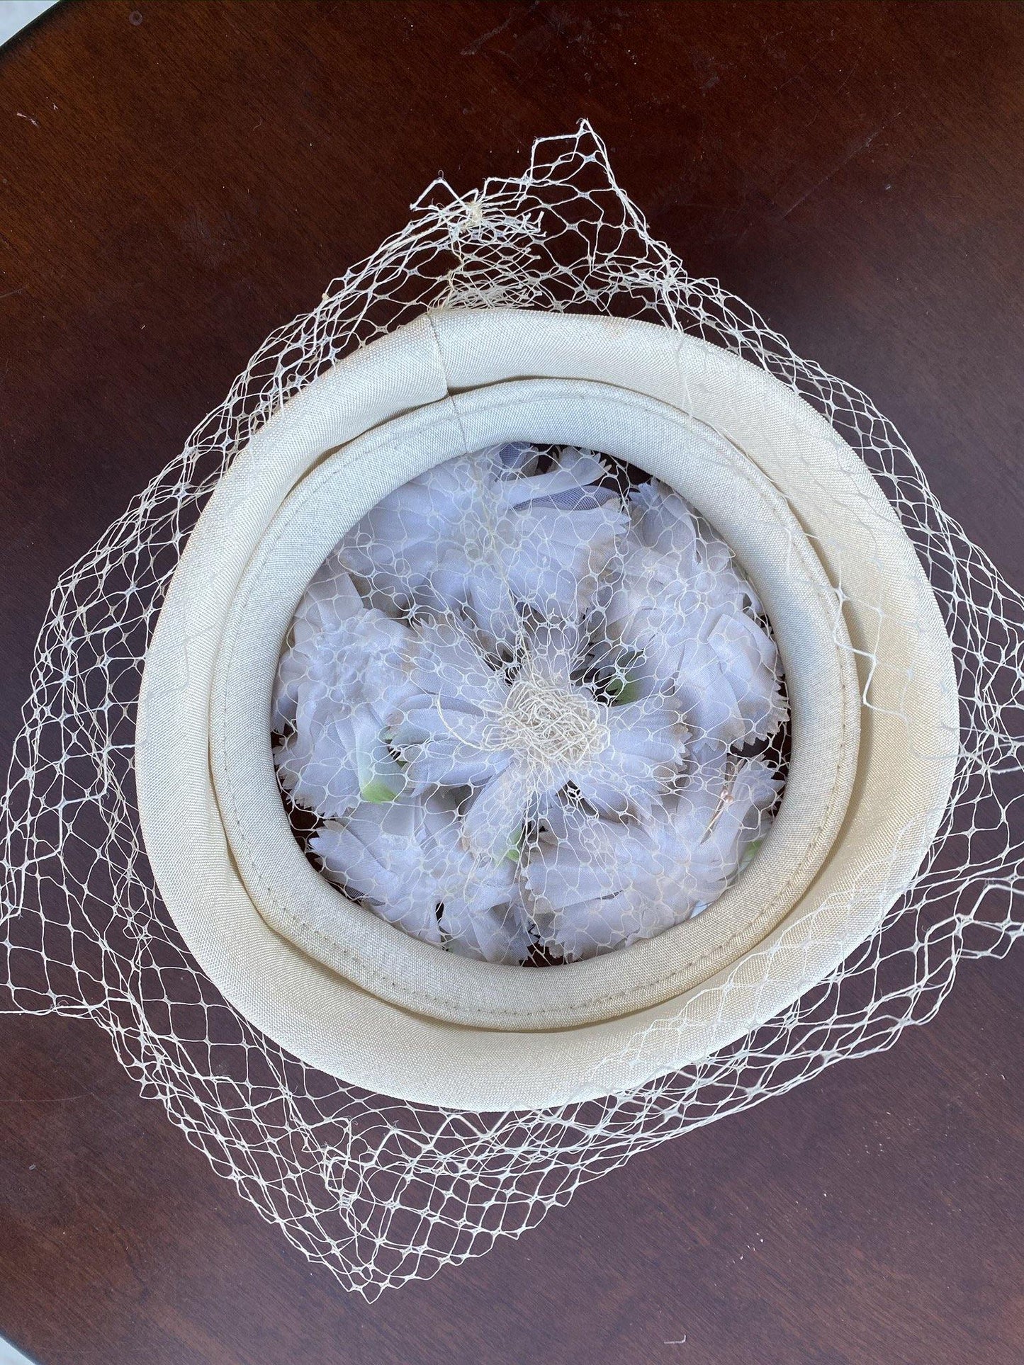
[[[786,717],[729,547],[586,450],[437,465],[292,622],[274,759],[324,874],[408,934],[572,961],[714,901],[763,838]]]

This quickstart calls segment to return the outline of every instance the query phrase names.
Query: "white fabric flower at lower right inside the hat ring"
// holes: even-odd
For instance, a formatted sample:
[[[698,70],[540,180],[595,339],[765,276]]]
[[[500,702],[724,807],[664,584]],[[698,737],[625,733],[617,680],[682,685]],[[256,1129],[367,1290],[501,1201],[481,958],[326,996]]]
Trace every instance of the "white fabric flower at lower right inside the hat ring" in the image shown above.
[[[762,759],[718,752],[643,823],[550,812],[522,872],[541,945],[575,961],[698,913],[763,837],[780,788]]]

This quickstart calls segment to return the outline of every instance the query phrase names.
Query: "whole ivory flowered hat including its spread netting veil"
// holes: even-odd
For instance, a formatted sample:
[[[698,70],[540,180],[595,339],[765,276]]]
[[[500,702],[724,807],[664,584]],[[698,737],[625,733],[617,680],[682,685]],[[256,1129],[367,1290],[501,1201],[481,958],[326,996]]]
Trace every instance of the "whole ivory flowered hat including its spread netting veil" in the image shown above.
[[[96,1020],[375,1297],[1006,951],[1023,644],[892,425],[584,124],[433,184],[59,583],[11,1007]]]

